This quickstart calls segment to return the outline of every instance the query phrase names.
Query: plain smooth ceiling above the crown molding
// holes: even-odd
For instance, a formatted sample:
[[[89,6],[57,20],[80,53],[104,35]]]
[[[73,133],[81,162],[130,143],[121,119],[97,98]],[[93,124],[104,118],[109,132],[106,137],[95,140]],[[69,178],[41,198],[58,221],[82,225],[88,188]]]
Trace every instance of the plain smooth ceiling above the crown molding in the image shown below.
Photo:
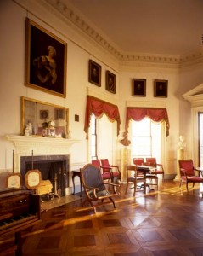
[[[203,0],[61,0],[122,53],[188,55],[203,48]]]

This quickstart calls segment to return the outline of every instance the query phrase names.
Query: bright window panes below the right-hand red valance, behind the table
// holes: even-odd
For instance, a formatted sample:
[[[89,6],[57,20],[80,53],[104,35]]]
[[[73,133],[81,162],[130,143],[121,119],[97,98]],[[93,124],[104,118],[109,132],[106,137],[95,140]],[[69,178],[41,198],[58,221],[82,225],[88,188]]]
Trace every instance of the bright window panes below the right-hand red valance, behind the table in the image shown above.
[[[155,157],[161,162],[161,123],[149,118],[132,121],[132,156]]]

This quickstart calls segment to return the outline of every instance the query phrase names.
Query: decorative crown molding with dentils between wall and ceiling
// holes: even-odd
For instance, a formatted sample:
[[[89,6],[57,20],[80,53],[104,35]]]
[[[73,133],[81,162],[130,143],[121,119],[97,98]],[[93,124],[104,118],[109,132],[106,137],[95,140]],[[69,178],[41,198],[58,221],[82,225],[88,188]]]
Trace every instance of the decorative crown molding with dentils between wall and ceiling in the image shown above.
[[[18,0],[15,0],[18,2]],[[131,62],[138,65],[152,65],[153,67],[188,67],[203,62],[203,49],[198,53],[188,55],[159,55],[122,52],[114,43],[110,42],[102,32],[93,25],[90,25],[82,14],[78,13],[70,3],[63,3],[63,0],[37,0],[35,3],[48,9],[58,19],[62,20],[77,32],[82,32],[88,41],[99,44],[100,47],[113,55],[121,64],[127,65]],[[131,64],[130,64],[131,65]]]

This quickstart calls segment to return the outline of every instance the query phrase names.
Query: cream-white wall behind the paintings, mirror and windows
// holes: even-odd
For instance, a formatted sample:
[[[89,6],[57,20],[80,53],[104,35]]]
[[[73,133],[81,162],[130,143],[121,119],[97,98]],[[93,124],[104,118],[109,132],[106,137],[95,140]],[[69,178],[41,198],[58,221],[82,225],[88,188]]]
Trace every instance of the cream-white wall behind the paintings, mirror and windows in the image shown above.
[[[18,1],[17,1],[18,2]],[[72,137],[80,139],[71,150],[72,165],[87,162],[87,140],[84,128],[87,88],[95,95],[102,95],[110,102],[118,102],[121,114],[121,131],[125,126],[127,101],[165,102],[170,120],[170,136],[166,138],[166,173],[176,173],[176,152],[178,136],[183,134],[187,143],[189,138],[190,106],[183,100],[182,94],[202,83],[203,63],[181,69],[172,67],[140,66],[138,63],[120,63],[108,54],[99,44],[87,40],[77,29],[60,20],[47,9],[38,6],[37,1],[12,0],[0,2],[0,171],[12,168],[12,150],[14,146],[5,138],[6,134],[20,134],[20,97],[27,96],[43,102],[53,102],[70,109],[70,130]],[[25,6],[25,7],[23,7]],[[67,53],[67,96],[62,98],[26,87],[25,75],[25,17],[34,20],[40,26],[53,32],[68,44]],[[102,86],[88,82],[88,60],[93,59],[102,66]],[[105,90],[105,71],[116,74],[116,95]],[[133,97],[132,79],[147,79],[145,98]],[[154,79],[168,80],[168,97],[154,98]],[[78,114],[79,122],[74,116]],[[187,121],[186,121],[187,120]],[[121,143],[116,142],[116,157],[119,158]]]

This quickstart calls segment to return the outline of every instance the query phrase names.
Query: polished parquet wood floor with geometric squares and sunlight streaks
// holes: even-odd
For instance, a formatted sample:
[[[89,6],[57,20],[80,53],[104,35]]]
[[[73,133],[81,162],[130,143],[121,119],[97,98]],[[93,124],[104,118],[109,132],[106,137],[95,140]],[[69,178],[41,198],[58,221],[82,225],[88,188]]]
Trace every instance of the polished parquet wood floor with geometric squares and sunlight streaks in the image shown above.
[[[116,209],[96,214],[81,199],[43,212],[42,223],[23,232],[23,256],[203,256],[201,188],[178,184],[133,197],[122,183]]]

